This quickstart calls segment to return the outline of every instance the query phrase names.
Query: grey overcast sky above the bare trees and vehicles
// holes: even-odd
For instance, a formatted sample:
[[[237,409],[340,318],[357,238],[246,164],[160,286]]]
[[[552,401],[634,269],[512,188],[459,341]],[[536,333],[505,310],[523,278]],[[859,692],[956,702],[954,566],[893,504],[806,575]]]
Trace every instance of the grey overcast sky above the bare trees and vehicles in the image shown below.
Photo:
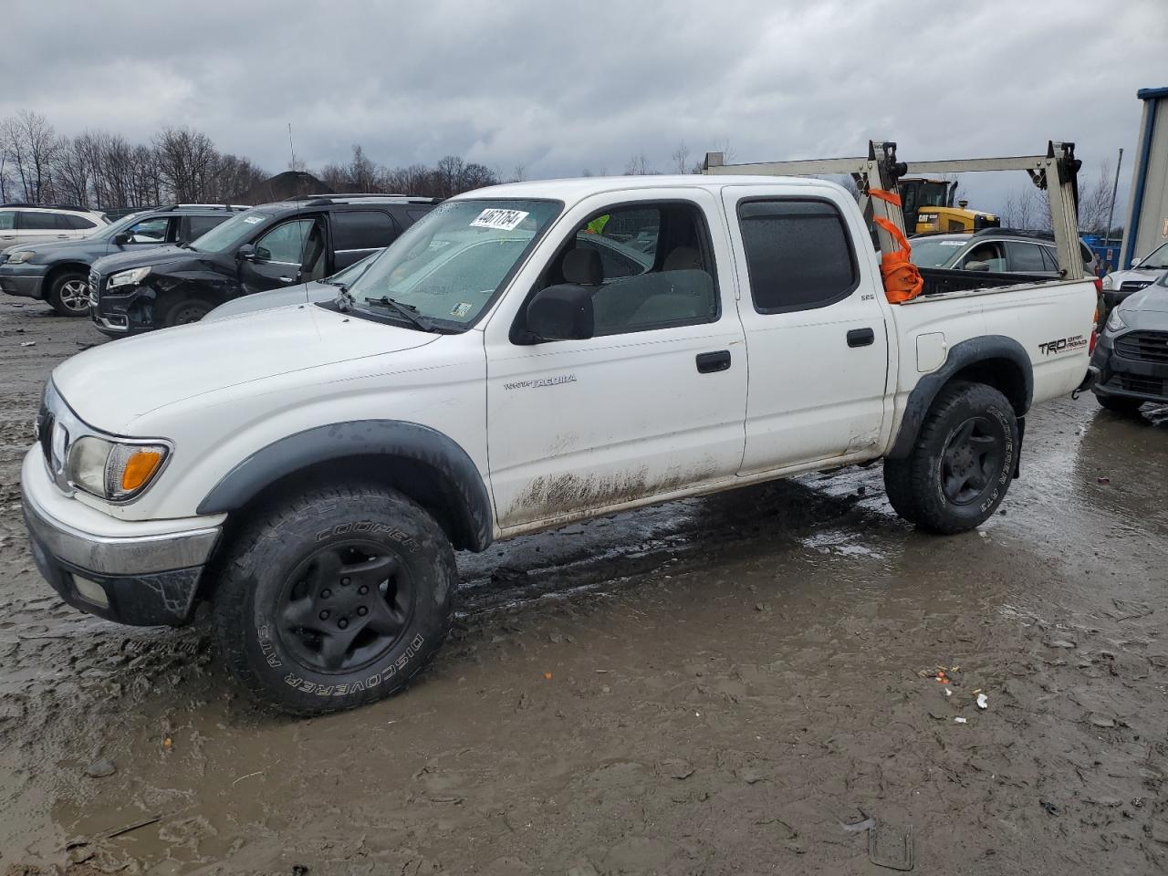
[[[7,0],[0,116],[146,140],[207,132],[278,172],[360,142],[387,165],[445,154],[510,176],[700,160],[1033,154],[1085,169],[1124,147],[1140,88],[1168,85],[1168,0],[311,2]],[[1114,167],[1114,164],[1112,164]],[[1003,186],[962,187],[986,201]],[[1121,195],[1122,199],[1122,195]],[[1124,201],[1121,200],[1122,204]],[[973,203],[995,209],[997,203]]]

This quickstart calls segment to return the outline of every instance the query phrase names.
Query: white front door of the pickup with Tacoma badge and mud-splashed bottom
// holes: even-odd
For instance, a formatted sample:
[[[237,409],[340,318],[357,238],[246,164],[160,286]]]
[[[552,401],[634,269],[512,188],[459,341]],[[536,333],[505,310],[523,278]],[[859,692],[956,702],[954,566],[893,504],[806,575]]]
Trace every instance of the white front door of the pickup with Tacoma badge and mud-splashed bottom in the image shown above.
[[[595,335],[524,340],[522,307],[487,327],[491,484],[505,530],[732,478],[742,459],[745,349],[730,253],[709,234],[714,196],[604,201],[558,224],[566,234],[542,248],[530,290],[591,288]]]

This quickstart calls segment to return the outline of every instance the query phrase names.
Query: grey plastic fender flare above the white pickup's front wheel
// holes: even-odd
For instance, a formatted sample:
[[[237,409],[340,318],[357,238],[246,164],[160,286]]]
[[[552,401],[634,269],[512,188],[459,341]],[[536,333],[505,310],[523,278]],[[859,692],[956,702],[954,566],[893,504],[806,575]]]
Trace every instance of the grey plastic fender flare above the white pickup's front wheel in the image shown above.
[[[491,496],[471,457],[449,436],[396,419],[333,423],[280,438],[224,474],[199,503],[197,513],[237,510],[290,474],[319,463],[353,457],[404,459],[434,470],[443,499],[459,517],[458,541],[471,550],[485,550],[491,544]]]

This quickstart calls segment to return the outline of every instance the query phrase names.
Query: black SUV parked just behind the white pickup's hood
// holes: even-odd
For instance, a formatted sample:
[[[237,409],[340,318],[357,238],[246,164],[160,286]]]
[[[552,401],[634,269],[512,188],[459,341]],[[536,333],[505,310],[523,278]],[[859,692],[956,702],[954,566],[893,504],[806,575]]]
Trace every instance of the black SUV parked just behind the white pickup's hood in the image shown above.
[[[197,241],[109,256],[89,276],[98,329],[119,338],[197,322],[224,301],[319,280],[388,246],[437,203],[311,195],[253,207]]]

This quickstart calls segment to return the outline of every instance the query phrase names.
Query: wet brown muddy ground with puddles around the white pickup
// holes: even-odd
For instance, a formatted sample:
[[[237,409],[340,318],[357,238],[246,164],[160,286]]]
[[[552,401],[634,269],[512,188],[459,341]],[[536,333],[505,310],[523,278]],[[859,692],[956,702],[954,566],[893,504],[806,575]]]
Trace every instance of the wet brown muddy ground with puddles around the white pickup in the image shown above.
[[[1168,871],[1168,408],[1037,409],[962,536],[877,465],[464,556],[406,694],[293,721],[204,626],[90,618],[33,568],[29,423],[98,340],[0,303],[0,872],[891,872],[869,818],[924,874]]]

